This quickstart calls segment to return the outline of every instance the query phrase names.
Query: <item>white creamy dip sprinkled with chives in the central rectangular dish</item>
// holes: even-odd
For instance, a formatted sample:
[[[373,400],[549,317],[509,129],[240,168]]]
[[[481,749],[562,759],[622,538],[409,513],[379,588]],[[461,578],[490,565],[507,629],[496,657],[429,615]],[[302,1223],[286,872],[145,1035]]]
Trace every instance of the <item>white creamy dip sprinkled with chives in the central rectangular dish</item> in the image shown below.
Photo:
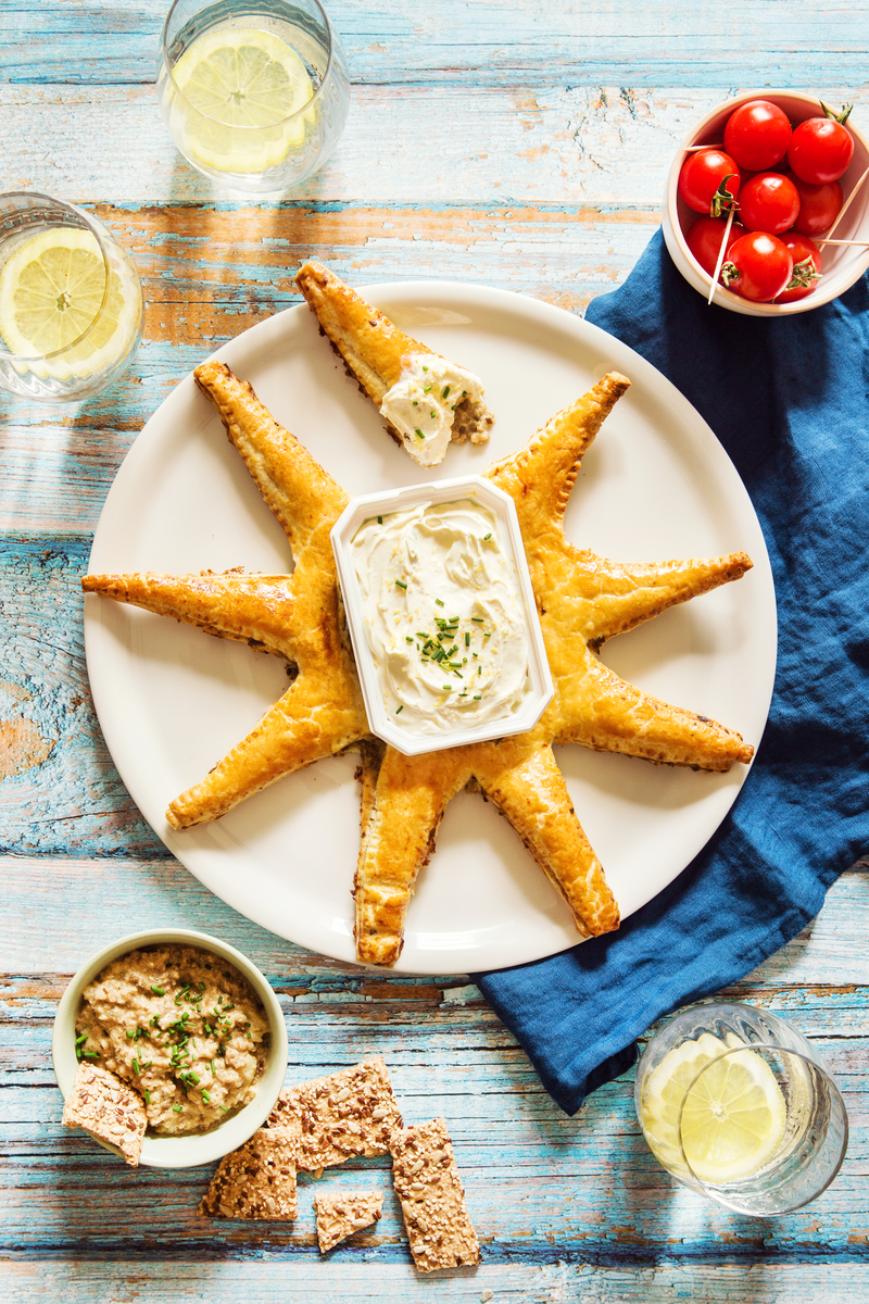
[[[383,703],[423,735],[508,717],[529,635],[496,516],[473,497],[370,516],[350,544]]]

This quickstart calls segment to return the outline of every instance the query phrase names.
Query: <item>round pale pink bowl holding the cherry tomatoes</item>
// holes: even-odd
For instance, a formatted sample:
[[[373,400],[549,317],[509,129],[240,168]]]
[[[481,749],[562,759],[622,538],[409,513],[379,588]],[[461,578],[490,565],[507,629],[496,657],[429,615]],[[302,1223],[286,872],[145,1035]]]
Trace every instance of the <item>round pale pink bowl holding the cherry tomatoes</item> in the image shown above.
[[[709,297],[713,282],[709,273],[704,271],[691,253],[685,241],[685,232],[697,214],[679,197],[679,173],[687,156],[685,149],[689,145],[720,146],[724,140],[727,119],[735,108],[750,99],[769,99],[778,104],[793,125],[823,112],[821,102],[812,95],[800,95],[792,90],[748,91],[735,99],[728,99],[724,104],[719,104],[710,113],[706,113],[706,117],[683,140],[667,179],[662,227],[672,261],[685,280],[694,289],[698,289],[704,299]],[[851,119],[848,119],[848,128],[853,136],[853,158],[839,183],[846,200],[869,167],[869,145],[866,145],[865,137]],[[775,170],[773,168],[773,171]],[[821,239],[816,237],[816,244],[819,244]],[[836,227],[834,239],[869,240],[869,177],[862,183],[860,193]],[[823,257],[821,284],[805,299],[796,299],[791,304],[754,304],[748,299],[741,299],[732,289],[717,286],[713,303],[720,308],[728,308],[734,313],[744,313],[747,317],[786,317],[791,313],[806,313],[810,308],[818,308],[821,304],[829,304],[830,300],[838,299],[869,269],[869,246],[860,249],[856,245],[826,245],[821,253]]]

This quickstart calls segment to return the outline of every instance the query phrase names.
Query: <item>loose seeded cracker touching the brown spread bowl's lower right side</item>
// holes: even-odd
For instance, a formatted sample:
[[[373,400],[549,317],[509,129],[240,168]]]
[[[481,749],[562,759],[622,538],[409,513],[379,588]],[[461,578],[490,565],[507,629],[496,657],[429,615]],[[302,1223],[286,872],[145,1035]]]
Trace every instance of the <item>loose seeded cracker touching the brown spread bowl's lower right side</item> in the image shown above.
[[[296,1146],[298,1128],[259,1128],[224,1155],[199,1204],[208,1218],[291,1222],[298,1213]]]

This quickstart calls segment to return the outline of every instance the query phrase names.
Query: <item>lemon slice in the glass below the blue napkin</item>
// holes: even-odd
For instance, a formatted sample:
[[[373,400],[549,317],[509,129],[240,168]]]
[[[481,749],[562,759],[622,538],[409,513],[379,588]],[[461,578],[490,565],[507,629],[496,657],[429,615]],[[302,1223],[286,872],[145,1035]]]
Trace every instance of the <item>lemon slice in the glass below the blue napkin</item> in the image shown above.
[[[649,1076],[640,1123],[654,1155],[688,1176],[679,1148],[679,1106],[693,1078],[717,1055],[744,1046],[704,1033],[664,1055]],[[691,1088],[681,1115],[685,1155],[698,1178],[722,1185],[756,1172],[784,1134],[787,1110],[775,1074],[761,1055],[744,1050],[713,1064]]]

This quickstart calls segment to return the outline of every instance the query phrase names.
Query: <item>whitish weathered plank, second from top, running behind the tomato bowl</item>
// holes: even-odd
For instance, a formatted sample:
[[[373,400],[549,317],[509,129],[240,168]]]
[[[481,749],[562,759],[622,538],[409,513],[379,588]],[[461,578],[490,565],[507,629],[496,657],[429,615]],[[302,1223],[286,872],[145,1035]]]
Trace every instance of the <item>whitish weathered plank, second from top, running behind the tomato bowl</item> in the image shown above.
[[[358,87],[335,155],[293,196],[341,209],[636,203],[657,210],[684,133],[735,87],[757,82],[740,72],[713,90],[674,80],[653,83],[672,89],[646,85],[636,76],[591,85],[534,77],[492,90],[474,77],[461,87],[460,112],[451,86],[403,87],[399,100],[388,80]],[[834,103],[853,100],[853,120],[866,126],[865,74],[851,85],[814,85]],[[8,189],[119,207],[215,200],[238,206],[176,151],[152,87],[0,83],[0,119],[4,141],[13,142],[4,154]],[[274,210],[274,200],[263,207]],[[546,257],[555,253],[552,243]]]

